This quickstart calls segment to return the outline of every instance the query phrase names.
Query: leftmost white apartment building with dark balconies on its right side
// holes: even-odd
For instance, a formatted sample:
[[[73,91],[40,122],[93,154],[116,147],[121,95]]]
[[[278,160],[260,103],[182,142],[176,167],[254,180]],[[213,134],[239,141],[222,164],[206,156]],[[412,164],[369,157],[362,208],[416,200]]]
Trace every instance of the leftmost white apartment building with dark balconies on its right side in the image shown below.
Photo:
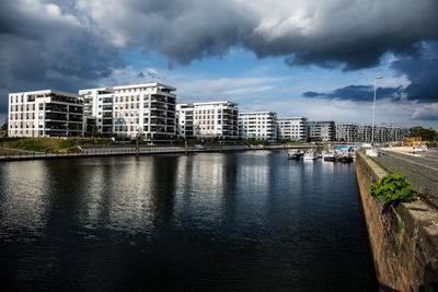
[[[54,90],[10,93],[8,117],[9,137],[81,136],[83,101]]]

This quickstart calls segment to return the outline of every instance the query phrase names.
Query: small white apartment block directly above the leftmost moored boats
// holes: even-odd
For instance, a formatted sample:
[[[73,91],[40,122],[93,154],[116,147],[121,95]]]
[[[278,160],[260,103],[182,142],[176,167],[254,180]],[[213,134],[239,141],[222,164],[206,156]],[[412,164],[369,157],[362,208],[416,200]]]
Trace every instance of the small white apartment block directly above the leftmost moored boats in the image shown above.
[[[308,118],[289,117],[278,118],[278,140],[281,141],[308,141]]]

